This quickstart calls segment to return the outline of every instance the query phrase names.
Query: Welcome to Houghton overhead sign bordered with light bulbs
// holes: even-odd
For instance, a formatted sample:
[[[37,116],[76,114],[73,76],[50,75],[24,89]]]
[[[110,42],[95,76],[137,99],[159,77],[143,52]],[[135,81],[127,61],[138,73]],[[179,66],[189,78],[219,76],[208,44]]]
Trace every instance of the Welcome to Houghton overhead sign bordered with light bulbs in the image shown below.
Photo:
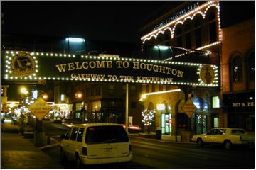
[[[139,84],[218,86],[212,64],[97,57],[46,52],[4,52],[7,81],[99,81]]]

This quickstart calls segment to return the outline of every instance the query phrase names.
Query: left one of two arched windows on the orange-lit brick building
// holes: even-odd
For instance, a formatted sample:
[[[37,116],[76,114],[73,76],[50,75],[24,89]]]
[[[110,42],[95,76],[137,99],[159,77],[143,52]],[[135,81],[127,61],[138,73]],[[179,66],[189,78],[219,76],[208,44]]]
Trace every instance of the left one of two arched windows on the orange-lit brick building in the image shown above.
[[[233,81],[242,81],[242,59],[241,57],[234,57],[232,62],[232,76]]]

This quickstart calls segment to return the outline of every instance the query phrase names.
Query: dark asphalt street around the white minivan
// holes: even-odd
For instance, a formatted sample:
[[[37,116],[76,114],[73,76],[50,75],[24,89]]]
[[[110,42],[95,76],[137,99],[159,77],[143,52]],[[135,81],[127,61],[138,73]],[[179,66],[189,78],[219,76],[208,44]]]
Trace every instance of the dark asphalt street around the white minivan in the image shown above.
[[[63,125],[44,121],[46,134],[48,130],[55,136],[57,132],[65,132]],[[47,127],[47,128],[46,128]],[[53,128],[54,127],[54,128]],[[55,137],[60,140],[59,137]],[[225,150],[223,147],[197,147],[194,143],[164,142],[163,140],[143,139],[130,135],[133,158],[127,168],[175,168],[175,169],[235,169],[255,167],[255,149],[235,147]],[[43,149],[43,152],[60,162],[60,147]],[[65,168],[74,168],[75,162],[68,161]],[[96,165],[91,168],[119,168],[117,164]]]

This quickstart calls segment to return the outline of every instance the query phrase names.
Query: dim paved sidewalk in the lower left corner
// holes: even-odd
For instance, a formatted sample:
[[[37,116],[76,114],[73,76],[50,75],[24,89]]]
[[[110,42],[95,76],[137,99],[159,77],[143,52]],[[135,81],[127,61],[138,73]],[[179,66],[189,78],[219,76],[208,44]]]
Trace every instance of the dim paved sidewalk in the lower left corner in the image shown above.
[[[1,169],[60,169],[41,149],[18,133],[18,125],[5,124],[1,132]]]

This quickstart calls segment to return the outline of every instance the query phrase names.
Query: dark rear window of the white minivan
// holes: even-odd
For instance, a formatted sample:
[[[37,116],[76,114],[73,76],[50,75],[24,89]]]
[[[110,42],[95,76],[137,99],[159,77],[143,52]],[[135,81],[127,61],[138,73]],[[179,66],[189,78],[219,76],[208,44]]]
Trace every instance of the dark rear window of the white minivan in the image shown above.
[[[87,144],[128,142],[127,132],[122,126],[92,126],[87,128],[85,142]]]

